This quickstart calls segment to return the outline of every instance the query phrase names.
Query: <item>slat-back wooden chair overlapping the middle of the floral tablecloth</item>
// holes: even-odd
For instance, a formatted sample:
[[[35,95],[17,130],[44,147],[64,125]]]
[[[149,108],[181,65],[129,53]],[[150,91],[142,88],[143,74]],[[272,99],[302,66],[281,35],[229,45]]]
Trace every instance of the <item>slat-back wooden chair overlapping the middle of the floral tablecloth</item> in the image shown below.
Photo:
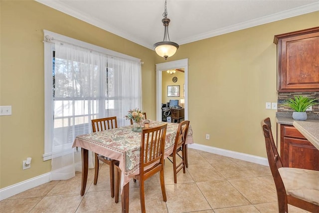
[[[145,213],[144,181],[160,172],[160,188],[163,201],[166,202],[164,182],[164,147],[167,124],[157,127],[145,128],[142,131],[140,148],[140,173],[134,179],[140,182],[141,212]],[[115,166],[116,187],[115,200],[119,198],[121,170]]]

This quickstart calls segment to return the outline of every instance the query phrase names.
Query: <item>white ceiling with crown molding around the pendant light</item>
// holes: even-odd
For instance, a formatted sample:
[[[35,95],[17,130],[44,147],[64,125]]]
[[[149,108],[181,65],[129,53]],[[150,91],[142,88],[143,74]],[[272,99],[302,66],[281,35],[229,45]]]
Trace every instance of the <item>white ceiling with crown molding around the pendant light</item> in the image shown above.
[[[36,1],[150,49],[163,40],[164,0]],[[181,45],[317,10],[319,0],[167,0],[169,37]]]

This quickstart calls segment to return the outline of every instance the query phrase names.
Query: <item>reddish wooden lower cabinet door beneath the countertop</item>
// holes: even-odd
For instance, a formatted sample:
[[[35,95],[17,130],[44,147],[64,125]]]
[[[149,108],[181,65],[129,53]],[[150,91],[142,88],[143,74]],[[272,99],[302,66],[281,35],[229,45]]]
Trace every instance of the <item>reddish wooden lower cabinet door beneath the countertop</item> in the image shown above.
[[[309,141],[284,137],[284,167],[319,171],[319,151]]]

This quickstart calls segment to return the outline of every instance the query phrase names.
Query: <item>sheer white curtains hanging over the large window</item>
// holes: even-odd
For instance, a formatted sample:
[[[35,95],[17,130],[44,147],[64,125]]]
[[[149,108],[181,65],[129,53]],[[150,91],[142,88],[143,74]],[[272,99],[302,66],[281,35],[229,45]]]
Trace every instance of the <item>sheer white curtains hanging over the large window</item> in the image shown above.
[[[117,116],[123,126],[128,110],[142,108],[141,64],[61,42],[55,43],[53,64],[51,180],[67,180],[81,171],[80,148],[72,144],[92,132],[92,119]]]

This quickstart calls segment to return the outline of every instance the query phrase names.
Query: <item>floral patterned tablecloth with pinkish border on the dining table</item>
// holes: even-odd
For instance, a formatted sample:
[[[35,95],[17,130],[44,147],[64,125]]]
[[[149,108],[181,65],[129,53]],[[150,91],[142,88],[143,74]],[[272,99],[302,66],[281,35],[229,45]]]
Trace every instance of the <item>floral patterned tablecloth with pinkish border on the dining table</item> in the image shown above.
[[[150,127],[165,122],[151,121]],[[167,123],[164,157],[173,151],[177,123]],[[192,144],[192,129],[189,127],[186,144]],[[132,126],[125,126],[101,132],[77,136],[72,147],[81,147],[108,158],[118,160],[122,170],[122,186],[139,173],[141,133],[133,132]],[[123,189],[123,188],[122,188]]]

